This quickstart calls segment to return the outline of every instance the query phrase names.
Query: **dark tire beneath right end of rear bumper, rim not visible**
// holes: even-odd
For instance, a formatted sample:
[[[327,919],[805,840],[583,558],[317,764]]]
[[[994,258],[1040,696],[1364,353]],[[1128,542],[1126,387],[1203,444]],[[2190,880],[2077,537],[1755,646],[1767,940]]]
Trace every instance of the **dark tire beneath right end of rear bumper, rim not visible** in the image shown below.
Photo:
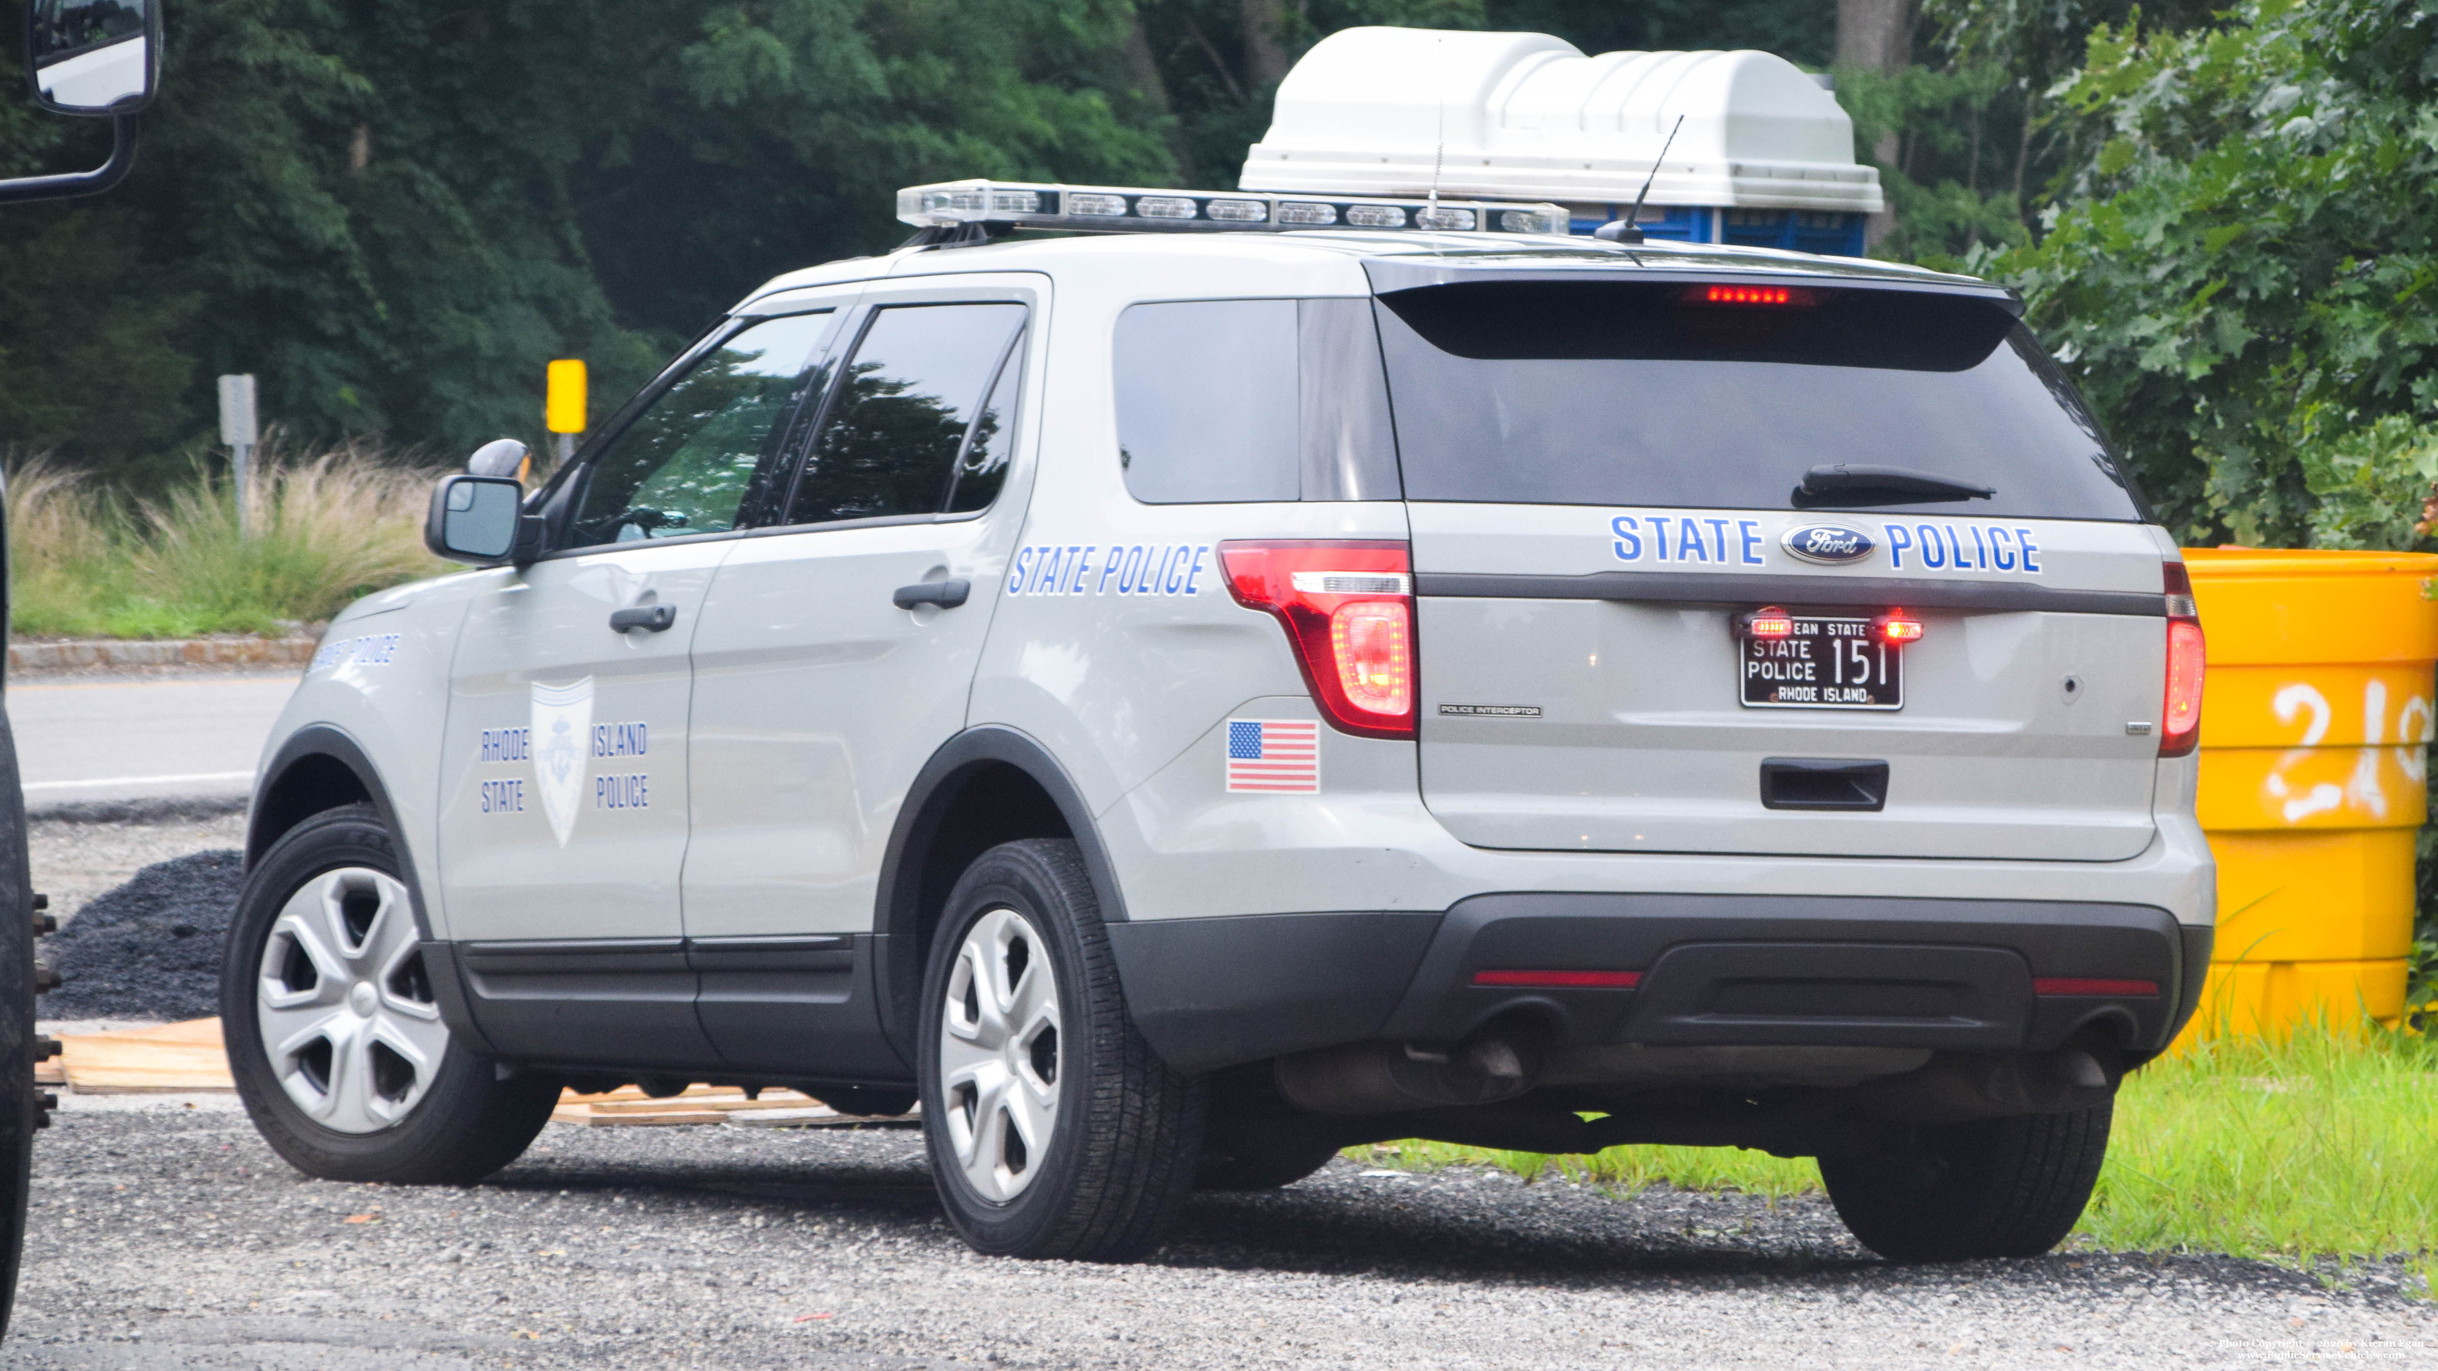
[[[1909,1154],[1821,1157],[1821,1183],[1846,1227],[1889,1261],[2038,1257],[2092,1201],[2111,1113],[1931,1125]]]

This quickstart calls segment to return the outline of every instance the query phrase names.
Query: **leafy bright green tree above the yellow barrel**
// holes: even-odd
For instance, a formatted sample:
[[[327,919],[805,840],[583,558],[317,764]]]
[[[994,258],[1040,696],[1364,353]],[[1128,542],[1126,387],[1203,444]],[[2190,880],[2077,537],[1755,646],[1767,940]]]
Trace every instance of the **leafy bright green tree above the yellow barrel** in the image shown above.
[[[2414,545],[2438,477],[2438,15],[2245,0],[2099,27],[2024,287],[2187,543]]]

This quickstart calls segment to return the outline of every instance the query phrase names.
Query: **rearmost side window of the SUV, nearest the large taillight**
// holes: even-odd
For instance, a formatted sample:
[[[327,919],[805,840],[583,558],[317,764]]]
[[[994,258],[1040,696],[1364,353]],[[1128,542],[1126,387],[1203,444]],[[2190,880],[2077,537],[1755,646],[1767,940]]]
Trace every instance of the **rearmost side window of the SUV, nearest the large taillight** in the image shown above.
[[[1397,499],[1363,300],[1185,300],[1117,319],[1117,446],[1146,504]]]

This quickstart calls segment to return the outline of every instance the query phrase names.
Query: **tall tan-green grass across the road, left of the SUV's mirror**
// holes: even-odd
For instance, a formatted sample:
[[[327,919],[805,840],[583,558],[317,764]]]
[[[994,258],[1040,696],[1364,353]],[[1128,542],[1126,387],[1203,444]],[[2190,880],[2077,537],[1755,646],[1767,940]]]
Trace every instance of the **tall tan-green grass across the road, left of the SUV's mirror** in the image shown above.
[[[63,638],[278,633],[358,594],[446,570],[422,545],[432,472],[351,443],[263,448],[236,536],[227,477],[197,468],[154,499],[32,458],[7,475],[12,628]]]

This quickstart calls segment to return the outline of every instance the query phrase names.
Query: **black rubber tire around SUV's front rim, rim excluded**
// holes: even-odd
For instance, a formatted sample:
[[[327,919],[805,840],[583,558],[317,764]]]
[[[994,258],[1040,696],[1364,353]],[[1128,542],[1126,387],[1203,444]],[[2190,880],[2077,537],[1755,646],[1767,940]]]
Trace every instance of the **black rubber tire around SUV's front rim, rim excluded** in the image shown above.
[[[500,1071],[451,1035],[424,1093],[378,1132],[339,1132],[315,1123],[280,1086],[256,1020],[263,947],[288,899],[305,882],[341,867],[368,867],[410,882],[397,847],[366,804],[332,808],[290,828],[263,852],[236,896],[229,952],[219,974],[219,1028],[229,1074],[254,1127],[290,1166],[324,1181],[397,1186],[471,1186],[514,1162],[558,1101],[558,1079]]]

